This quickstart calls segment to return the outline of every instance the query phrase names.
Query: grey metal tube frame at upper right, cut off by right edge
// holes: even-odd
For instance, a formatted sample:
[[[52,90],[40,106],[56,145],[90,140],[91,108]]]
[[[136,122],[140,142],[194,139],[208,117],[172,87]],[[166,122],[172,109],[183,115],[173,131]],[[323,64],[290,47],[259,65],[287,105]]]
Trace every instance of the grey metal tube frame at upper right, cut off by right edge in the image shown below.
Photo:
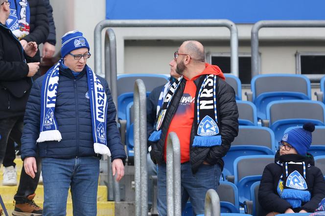
[[[251,50],[252,50],[252,78],[259,74],[258,56],[258,31],[265,27],[325,27],[325,21],[259,21],[252,27]]]

